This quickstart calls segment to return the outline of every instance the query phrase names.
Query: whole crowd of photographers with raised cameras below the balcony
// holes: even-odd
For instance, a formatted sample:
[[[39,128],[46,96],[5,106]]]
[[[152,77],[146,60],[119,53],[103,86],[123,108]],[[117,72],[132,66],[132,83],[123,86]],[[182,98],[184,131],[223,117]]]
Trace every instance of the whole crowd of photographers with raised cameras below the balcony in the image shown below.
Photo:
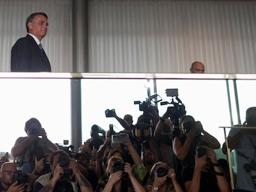
[[[25,123],[27,136],[17,138],[12,148],[14,162],[8,154],[1,158],[0,192],[231,191],[228,161],[217,159],[215,152],[220,143],[199,121],[186,115],[181,101],[173,102],[162,116],[150,102],[140,103],[140,111],[143,114],[134,123],[132,115],[122,119],[114,109],[107,109],[106,117],[115,118],[124,130],[116,133],[113,125],[108,131],[92,125],[91,138],[78,151],[72,145],[54,144],[39,120],[29,119]],[[256,107],[247,109],[246,115],[242,126],[255,126]],[[242,146],[241,138],[246,136],[255,151],[254,131],[239,133],[231,131],[228,137],[231,150],[237,144]],[[245,161],[245,157],[241,159]],[[247,180],[237,182],[241,185],[244,181],[245,186],[236,190],[256,191],[256,174],[251,173],[256,170],[254,157],[246,168]]]

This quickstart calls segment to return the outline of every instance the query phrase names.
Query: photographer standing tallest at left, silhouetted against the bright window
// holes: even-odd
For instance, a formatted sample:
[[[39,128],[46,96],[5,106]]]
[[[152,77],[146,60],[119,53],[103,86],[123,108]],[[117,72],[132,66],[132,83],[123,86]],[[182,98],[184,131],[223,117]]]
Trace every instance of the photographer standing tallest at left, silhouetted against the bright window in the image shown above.
[[[58,146],[48,140],[45,129],[35,118],[25,123],[25,132],[28,136],[17,138],[11,151],[17,163],[17,169],[22,170],[23,173],[32,173],[35,166],[35,152],[38,148],[56,151]]]

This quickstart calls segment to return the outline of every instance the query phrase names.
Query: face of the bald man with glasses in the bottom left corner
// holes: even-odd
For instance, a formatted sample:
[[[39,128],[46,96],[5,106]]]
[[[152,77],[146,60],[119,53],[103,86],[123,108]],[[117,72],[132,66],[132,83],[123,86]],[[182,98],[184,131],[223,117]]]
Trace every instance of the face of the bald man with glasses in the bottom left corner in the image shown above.
[[[6,164],[0,172],[2,184],[10,186],[12,184],[12,174],[17,170],[15,164]]]

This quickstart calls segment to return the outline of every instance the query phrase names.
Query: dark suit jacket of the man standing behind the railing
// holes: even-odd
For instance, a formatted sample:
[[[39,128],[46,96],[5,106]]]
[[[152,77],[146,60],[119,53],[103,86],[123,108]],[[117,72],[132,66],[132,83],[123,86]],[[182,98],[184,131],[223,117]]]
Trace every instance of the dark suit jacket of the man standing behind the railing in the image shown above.
[[[12,47],[11,72],[51,72],[45,51],[41,53],[32,36],[20,38]]]

